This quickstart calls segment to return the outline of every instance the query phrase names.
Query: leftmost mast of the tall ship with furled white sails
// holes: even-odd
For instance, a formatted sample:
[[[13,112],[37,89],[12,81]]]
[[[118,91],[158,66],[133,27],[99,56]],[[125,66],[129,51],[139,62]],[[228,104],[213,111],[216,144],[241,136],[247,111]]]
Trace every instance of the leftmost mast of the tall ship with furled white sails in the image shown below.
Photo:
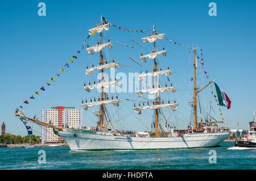
[[[100,24],[100,26],[98,26],[98,24]],[[85,70],[86,71],[86,74],[87,75],[92,75],[92,72],[95,71],[95,70],[100,70],[99,73],[101,73],[101,78],[98,78],[98,83],[96,84],[95,82],[95,79],[94,79],[94,85],[91,86],[90,85],[90,82],[89,82],[89,86],[85,86],[84,85],[84,89],[88,92],[90,92],[90,90],[93,90],[93,89],[101,89],[101,92],[100,92],[100,95],[98,95],[98,102],[96,102],[96,98],[94,97],[94,102],[92,102],[92,97],[90,98],[90,102],[88,103],[87,100],[86,100],[86,103],[83,103],[81,104],[81,106],[84,107],[85,110],[88,109],[88,107],[93,107],[93,106],[100,106],[100,109],[99,111],[97,111],[97,113],[95,114],[96,116],[98,116],[98,121],[97,121],[97,128],[100,127],[100,131],[105,131],[105,124],[104,124],[104,119],[108,119],[108,115],[107,115],[107,112],[106,112],[106,107],[105,107],[105,104],[109,104],[109,103],[112,103],[114,104],[114,106],[119,106],[119,102],[121,99],[114,99],[113,100],[113,96],[112,96],[112,100],[109,100],[109,96],[106,95],[106,92],[105,92],[105,88],[106,87],[109,87],[109,86],[113,86],[113,87],[117,87],[117,86],[120,86],[119,83],[117,83],[118,81],[112,81],[112,82],[108,82],[108,81],[104,81],[104,70],[105,69],[116,69],[116,68],[119,68],[119,65],[117,65],[117,63],[113,62],[112,64],[108,64],[108,62],[106,60],[104,60],[104,52],[102,52],[102,49],[104,47],[107,47],[107,48],[113,48],[113,45],[112,45],[112,42],[108,42],[108,43],[105,43],[104,41],[102,41],[103,39],[103,32],[102,31],[108,31],[111,24],[106,22],[106,19],[104,17],[102,17],[101,15],[101,20],[100,20],[100,23],[96,24],[96,27],[94,28],[91,28],[89,31],[91,32],[90,35],[94,36],[95,33],[100,33],[100,40],[97,40],[98,43],[93,46],[93,47],[89,47],[88,45],[88,48],[86,48],[86,50],[88,50],[88,53],[89,54],[94,54],[94,52],[97,52],[97,53],[100,53],[100,60],[99,60],[99,64],[98,66],[94,67],[92,65],[92,68],[89,68],[88,69],[88,66],[87,66],[87,69]],[[95,112],[94,112],[95,113]],[[108,120],[107,120],[108,121]],[[106,127],[107,128],[107,127]]]

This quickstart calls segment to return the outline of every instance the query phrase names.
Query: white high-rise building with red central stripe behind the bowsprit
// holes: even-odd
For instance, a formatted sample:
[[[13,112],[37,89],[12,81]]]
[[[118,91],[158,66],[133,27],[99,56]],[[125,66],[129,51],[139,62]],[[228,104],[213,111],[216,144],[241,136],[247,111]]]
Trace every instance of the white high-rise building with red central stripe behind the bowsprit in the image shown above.
[[[64,106],[51,107],[50,110],[42,110],[42,121],[62,128],[81,128],[82,109]],[[63,140],[53,133],[52,128],[42,127],[42,144],[61,141]]]

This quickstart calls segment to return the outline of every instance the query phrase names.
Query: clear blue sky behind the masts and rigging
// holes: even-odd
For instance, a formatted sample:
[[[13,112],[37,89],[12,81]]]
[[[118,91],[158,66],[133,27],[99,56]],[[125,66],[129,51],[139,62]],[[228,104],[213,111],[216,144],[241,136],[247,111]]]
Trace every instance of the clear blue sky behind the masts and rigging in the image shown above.
[[[39,2],[46,3],[46,16],[38,16]],[[213,1],[217,4],[217,16],[209,16],[210,2],[212,1],[1,1],[0,123],[5,121],[7,132],[24,136],[27,134],[26,128],[14,116],[15,107],[19,104],[27,109],[28,115],[36,113],[39,117],[42,109],[52,106],[81,108],[81,98],[86,95],[89,97],[81,89],[86,79],[84,69],[86,64],[96,62],[93,60],[94,56],[83,51],[55,83],[49,87],[45,83],[72,58],[88,36],[88,29],[99,22],[102,14],[110,23],[135,30],[151,29],[154,22],[156,30],[166,33],[168,38],[188,46],[199,45],[203,49],[205,70],[232,100],[230,110],[221,107],[225,119],[229,116],[229,127],[237,128],[239,120],[240,128],[246,129],[247,122],[256,110],[256,2]],[[130,51],[122,45],[114,44],[116,49],[109,50],[111,57],[115,56],[119,62],[132,66],[132,70],[123,67],[121,71],[128,73],[142,69],[127,58],[130,55],[139,60],[142,51],[129,38],[133,37],[141,42],[139,39],[148,33],[142,35],[119,32],[113,27],[108,33],[112,41],[138,48]],[[92,39],[89,40],[91,41]],[[168,49],[167,57],[162,60],[170,60],[168,64],[174,70],[176,68],[178,75],[188,69],[192,73],[192,65],[187,66],[188,50],[162,41]],[[186,69],[181,70],[182,68]],[[179,76],[184,80],[183,75]],[[186,76],[187,83],[191,84],[188,87],[191,88],[189,79],[192,75]],[[175,74],[173,78],[175,79]],[[175,86],[178,85],[181,83],[176,79]],[[34,92],[42,86],[46,87],[46,91],[40,96],[35,95]],[[24,100],[28,100],[31,95],[36,100],[24,105]],[[125,99],[130,95],[121,95],[121,98]],[[189,119],[191,111],[187,102],[191,101],[189,99],[192,93],[183,98],[179,97],[179,93],[176,96],[187,110],[184,116]],[[133,103],[125,104],[127,109],[133,106]],[[131,111],[123,114],[129,112]],[[126,120],[130,124],[129,128],[144,129],[135,117],[136,115],[130,122]],[[93,115],[84,111],[84,124],[92,124],[92,119]],[[40,131],[39,128],[37,130]]]

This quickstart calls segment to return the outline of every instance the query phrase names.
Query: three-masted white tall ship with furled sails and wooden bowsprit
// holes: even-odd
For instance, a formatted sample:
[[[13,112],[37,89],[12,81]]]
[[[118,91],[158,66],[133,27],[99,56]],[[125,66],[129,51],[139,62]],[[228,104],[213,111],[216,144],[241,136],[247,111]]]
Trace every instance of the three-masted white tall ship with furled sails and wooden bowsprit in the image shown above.
[[[160,85],[159,77],[164,77],[172,75],[173,71],[168,68],[166,70],[162,69],[159,66],[158,56],[166,56],[167,50],[163,47],[161,50],[158,50],[156,47],[156,41],[161,41],[164,39],[164,33],[158,33],[153,26],[153,30],[150,33],[150,36],[143,37],[141,40],[146,44],[151,44],[152,52],[149,54],[141,53],[141,60],[146,65],[151,67],[152,71],[144,70],[146,73],[138,75],[138,79],[141,83],[139,85],[144,85],[146,82],[146,87],[138,89],[134,94],[138,95],[139,99],[143,100],[134,100],[127,98],[129,102],[133,102],[134,105],[131,106],[131,109],[137,113],[137,116],[142,115],[143,111],[151,111],[153,113],[153,119],[151,124],[151,130],[149,131],[125,131],[119,130],[114,126],[114,120],[110,118],[110,112],[113,110],[108,109],[109,104],[114,106],[119,106],[122,104],[122,100],[118,98],[118,94],[112,92],[109,94],[108,91],[105,91],[109,87],[119,87],[120,83],[115,78],[110,78],[110,81],[104,77],[108,73],[108,69],[117,69],[120,65],[118,61],[107,58],[104,54],[103,49],[112,49],[113,43],[110,39],[106,39],[104,32],[108,31],[112,26],[111,23],[102,20],[100,23],[96,24],[96,27],[89,30],[90,35],[94,34],[99,35],[99,39],[95,46],[87,47],[86,50],[89,54],[98,54],[98,65],[89,68],[86,66],[85,74],[89,77],[93,75],[94,71],[99,71],[98,74],[98,83],[89,82],[89,85],[82,87],[86,94],[92,94],[92,91],[98,91],[98,97],[92,97],[90,99],[82,100],[81,106],[85,111],[89,111],[90,108],[98,106],[98,111],[93,111],[96,116],[96,125],[95,127],[82,127],[79,129],[68,128],[68,127],[59,127],[52,125],[50,123],[44,123],[39,121],[38,117],[30,118],[24,115],[24,110],[16,110],[15,116],[22,118],[24,120],[32,121],[43,127],[53,128],[53,132],[61,137],[64,141],[67,142],[71,150],[144,150],[144,149],[174,149],[174,148],[207,148],[213,146],[219,146],[222,141],[230,135],[230,130],[225,128],[225,126],[220,127],[219,124],[224,124],[224,121],[214,119],[212,116],[207,115],[204,119],[201,118],[199,121],[198,109],[199,104],[198,97],[199,93],[208,87],[213,81],[210,81],[203,88],[197,86],[197,60],[196,60],[196,49],[193,48],[194,60],[193,66],[193,97],[192,102],[189,102],[189,105],[192,107],[192,117],[194,125],[188,125],[185,129],[176,129],[175,125],[170,127],[170,121],[168,117],[164,116],[163,110],[176,111],[180,103],[176,102],[176,99],[170,101],[171,94],[176,92],[176,87],[165,85]],[[105,40],[104,40],[105,38]],[[159,46],[158,46],[159,47]],[[138,54],[139,57],[139,54]],[[147,62],[147,58],[150,58],[152,62]],[[100,78],[99,78],[100,77]],[[147,78],[152,78],[152,83],[148,83]],[[167,96],[168,100],[164,100],[160,93],[163,92],[169,94]],[[148,94],[148,98],[144,98],[143,94]],[[95,95],[95,94],[92,94]],[[201,108],[200,108],[201,109]],[[119,110],[120,111],[120,110]],[[95,119],[94,119],[95,120]],[[203,121],[204,120],[204,121]]]

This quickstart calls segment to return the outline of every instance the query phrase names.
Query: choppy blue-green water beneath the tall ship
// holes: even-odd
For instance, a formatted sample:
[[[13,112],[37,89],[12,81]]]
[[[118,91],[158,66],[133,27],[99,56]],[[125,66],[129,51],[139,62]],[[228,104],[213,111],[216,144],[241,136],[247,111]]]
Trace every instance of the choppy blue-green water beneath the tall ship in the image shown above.
[[[256,169],[256,149],[236,149],[233,144],[125,151],[71,151],[68,146],[0,148],[0,169]],[[38,163],[39,150],[46,151],[46,163]],[[216,163],[209,163],[210,150],[216,151]]]

